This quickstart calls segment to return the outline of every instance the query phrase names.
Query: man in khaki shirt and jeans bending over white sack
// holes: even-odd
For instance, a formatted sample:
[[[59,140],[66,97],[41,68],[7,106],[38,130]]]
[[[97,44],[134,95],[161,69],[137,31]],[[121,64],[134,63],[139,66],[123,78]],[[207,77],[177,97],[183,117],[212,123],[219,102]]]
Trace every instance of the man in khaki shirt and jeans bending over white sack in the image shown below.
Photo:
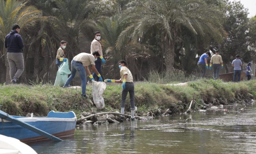
[[[72,87],[70,86],[70,82],[73,80],[75,77],[76,71],[78,71],[79,76],[82,80],[82,96],[87,97],[85,94],[86,90],[86,72],[89,74],[89,77],[91,80],[94,80],[92,74],[90,73],[90,70],[88,68],[89,65],[92,65],[93,71],[97,74],[99,77],[99,81],[103,81],[99,72],[95,68],[95,60],[99,57],[98,52],[93,52],[92,54],[89,53],[79,53],[76,55],[73,60],[71,61],[71,75],[66,81],[65,85],[63,87]],[[86,72],[85,72],[86,71]]]

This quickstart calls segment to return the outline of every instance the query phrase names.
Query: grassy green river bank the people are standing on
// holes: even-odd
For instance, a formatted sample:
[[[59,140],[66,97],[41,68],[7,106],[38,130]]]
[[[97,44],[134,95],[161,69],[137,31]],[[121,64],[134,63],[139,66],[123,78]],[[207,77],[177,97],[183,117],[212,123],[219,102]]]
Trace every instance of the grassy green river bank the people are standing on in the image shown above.
[[[87,86],[87,94],[92,99],[92,87]],[[149,82],[138,82],[135,85],[135,105],[137,113],[145,115],[156,109],[170,108],[173,112],[187,110],[193,93],[196,103],[194,109],[212,105],[243,104],[256,97],[256,81],[240,83],[224,83],[221,80],[198,80],[188,86],[165,86]],[[0,86],[1,110],[11,115],[26,116],[33,112],[35,116],[46,116],[50,110],[67,112],[100,112],[92,106],[90,99],[80,96],[81,89],[53,87],[52,85],[9,85]],[[121,84],[107,84],[103,94],[105,109],[116,111],[120,109]],[[126,100],[126,111],[130,110],[129,96]]]

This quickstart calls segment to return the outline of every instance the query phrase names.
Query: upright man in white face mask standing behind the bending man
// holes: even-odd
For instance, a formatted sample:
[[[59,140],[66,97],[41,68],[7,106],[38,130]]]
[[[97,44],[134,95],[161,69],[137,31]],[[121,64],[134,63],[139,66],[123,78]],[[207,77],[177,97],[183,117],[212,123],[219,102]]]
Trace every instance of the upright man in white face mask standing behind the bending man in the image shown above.
[[[95,67],[98,70],[98,72],[101,74],[101,61],[103,64],[105,64],[105,60],[103,58],[100,37],[101,37],[100,32],[96,31],[94,40],[91,43],[91,54],[95,51],[97,51],[99,53],[99,57],[95,61]],[[96,81],[99,81],[99,78],[97,77],[97,75],[95,73],[93,73],[93,77],[95,78]],[[91,80],[89,80],[88,83],[91,83]]]

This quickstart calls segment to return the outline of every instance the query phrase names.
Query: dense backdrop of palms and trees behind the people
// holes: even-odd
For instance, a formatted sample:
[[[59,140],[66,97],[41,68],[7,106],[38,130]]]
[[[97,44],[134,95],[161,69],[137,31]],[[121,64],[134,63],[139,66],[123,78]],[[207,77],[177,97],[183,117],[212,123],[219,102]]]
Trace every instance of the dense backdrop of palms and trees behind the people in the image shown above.
[[[124,59],[135,80],[150,70],[196,71],[197,55],[216,49],[225,63],[236,54],[254,60],[256,17],[228,0],[2,0],[0,2],[0,83],[9,83],[4,38],[11,25],[21,26],[25,70],[21,82],[53,81],[61,40],[69,61],[90,52],[93,32],[101,31],[106,65],[103,77],[117,78]],[[52,78],[51,78],[52,77]]]

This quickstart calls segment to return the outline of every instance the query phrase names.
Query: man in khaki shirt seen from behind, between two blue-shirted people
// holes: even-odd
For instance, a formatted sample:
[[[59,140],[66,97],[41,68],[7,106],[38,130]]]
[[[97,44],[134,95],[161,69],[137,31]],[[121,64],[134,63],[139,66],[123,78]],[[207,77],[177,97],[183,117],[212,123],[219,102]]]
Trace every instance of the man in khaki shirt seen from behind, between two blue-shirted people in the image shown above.
[[[211,57],[209,68],[211,69],[212,67],[214,80],[217,80],[219,78],[220,67],[223,68],[223,61],[221,55],[219,55],[219,50],[216,50],[215,55]]]

